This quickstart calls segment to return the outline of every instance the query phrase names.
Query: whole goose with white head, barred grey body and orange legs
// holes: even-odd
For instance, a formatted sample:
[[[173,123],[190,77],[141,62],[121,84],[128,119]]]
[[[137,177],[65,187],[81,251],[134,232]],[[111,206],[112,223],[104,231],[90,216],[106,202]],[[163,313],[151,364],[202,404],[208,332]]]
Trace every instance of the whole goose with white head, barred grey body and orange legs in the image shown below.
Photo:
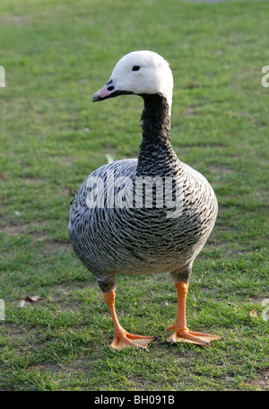
[[[134,94],[144,105],[138,158],[109,161],[92,171],[70,208],[70,242],[97,279],[114,324],[110,345],[117,351],[129,346],[147,349],[156,339],[129,334],[120,326],[117,274],[170,274],[178,314],[169,326],[169,343],[210,345],[221,339],[187,328],[192,265],[213,230],[218,204],[209,182],[180,161],[172,148],[172,90],[169,63],[156,52],[142,50],[122,57],[108,83],[92,96],[95,102]]]

